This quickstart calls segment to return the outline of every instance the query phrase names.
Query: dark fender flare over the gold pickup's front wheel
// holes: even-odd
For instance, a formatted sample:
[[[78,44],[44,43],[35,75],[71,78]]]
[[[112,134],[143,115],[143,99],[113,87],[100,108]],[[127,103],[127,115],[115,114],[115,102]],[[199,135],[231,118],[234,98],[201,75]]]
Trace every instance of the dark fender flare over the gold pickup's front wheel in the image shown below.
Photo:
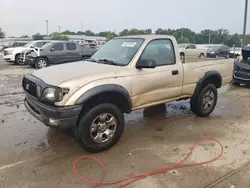
[[[89,89],[88,91],[84,92],[75,102],[75,105],[82,105],[84,102],[89,100],[91,97],[94,97],[95,95],[104,93],[104,92],[117,92],[124,96],[127,99],[128,102],[128,110],[131,110],[132,108],[132,103],[131,103],[131,98],[128,93],[128,91],[117,84],[104,84],[100,86],[93,87]]]

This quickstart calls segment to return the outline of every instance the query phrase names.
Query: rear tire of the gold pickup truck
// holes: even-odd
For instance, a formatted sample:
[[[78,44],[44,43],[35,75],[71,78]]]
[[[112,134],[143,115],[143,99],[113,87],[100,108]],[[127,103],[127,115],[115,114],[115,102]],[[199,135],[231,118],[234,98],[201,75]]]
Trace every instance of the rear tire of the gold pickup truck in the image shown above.
[[[210,107],[206,108],[206,106],[204,106],[204,97],[207,96],[207,98],[212,98],[212,95],[208,95],[209,93],[212,93],[213,95],[213,100],[208,102],[212,102],[212,104],[210,104]],[[210,96],[210,97],[209,97]],[[217,88],[213,85],[213,84],[209,84],[206,87],[202,88],[199,93],[191,98],[190,101],[190,107],[191,110],[200,117],[207,117],[209,116],[216,104],[217,104],[217,99],[218,99],[218,91]]]

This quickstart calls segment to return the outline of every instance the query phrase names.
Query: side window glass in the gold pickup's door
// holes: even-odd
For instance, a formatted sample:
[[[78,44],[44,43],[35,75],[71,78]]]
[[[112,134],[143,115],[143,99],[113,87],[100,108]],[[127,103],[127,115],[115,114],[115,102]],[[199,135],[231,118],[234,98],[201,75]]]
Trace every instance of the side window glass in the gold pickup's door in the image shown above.
[[[144,49],[140,59],[155,60],[156,66],[175,64],[175,53],[172,41],[169,39],[151,41]]]

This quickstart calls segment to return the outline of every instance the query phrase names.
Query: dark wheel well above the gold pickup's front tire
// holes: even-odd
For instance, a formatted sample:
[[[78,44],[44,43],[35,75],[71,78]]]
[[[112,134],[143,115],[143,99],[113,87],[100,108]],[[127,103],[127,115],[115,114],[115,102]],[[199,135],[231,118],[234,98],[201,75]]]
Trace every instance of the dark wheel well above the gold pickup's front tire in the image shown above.
[[[130,113],[131,107],[128,99],[121,93],[115,91],[107,91],[96,94],[83,103],[81,116],[88,110],[101,103],[112,103],[119,107],[122,112]]]

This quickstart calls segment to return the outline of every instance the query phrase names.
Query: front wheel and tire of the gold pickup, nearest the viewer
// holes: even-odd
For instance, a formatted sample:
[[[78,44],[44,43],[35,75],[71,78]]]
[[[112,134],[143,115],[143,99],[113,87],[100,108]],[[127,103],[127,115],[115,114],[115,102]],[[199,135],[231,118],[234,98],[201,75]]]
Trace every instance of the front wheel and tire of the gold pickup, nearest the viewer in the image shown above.
[[[101,119],[103,117],[101,118],[99,117],[103,114],[107,114],[107,116],[103,122],[104,127],[101,127],[101,125],[98,124],[98,122],[99,123],[102,122]],[[116,128],[112,129],[112,131],[114,131],[110,134],[110,136],[112,137],[108,138],[107,134],[104,132],[108,130],[107,119],[109,120],[110,116],[114,118],[114,122],[116,122]],[[113,145],[115,145],[118,142],[124,130],[124,116],[123,116],[122,111],[117,106],[110,104],[110,103],[99,104],[93,107],[92,109],[90,109],[86,114],[84,114],[80,118],[81,119],[78,124],[77,137],[81,146],[85,150],[91,153],[98,153],[98,152],[111,148]],[[110,127],[112,126],[113,124],[111,124]],[[93,129],[92,133],[90,131],[91,128]],[[111,130],[111,128],[109,130]],[[99,135],[101,135],[99,137],[100,140],[98,139],[95,140],[95,138],[97,138],[98,132],[99,132]],[[105,134],[106,136],[104,136]]]

